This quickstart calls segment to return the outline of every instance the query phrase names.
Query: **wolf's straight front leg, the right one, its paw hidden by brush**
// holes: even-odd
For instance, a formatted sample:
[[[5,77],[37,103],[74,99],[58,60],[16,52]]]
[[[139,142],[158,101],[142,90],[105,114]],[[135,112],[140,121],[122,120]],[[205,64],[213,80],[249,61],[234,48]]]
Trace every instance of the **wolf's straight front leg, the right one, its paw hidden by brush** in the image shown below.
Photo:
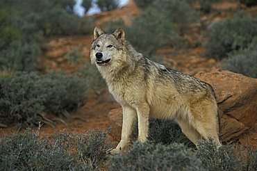
[[[138,113],[138,140],[145,142],[148,136],[149,129],[149,113],[150,107],[147,103],[142,103],[137,108]]]

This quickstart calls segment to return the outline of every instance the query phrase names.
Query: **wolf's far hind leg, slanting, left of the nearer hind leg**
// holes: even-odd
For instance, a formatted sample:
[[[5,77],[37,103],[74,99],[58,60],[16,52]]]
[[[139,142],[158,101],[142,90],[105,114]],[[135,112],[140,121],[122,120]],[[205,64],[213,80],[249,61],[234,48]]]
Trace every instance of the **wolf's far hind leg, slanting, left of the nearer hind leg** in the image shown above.
[[[179,122],[179,126],[181,127],[181,130],[185,136],[187,136],[188,139],[194,143],[194,145],[197,145],[197,142],[201,140],[200,133],[194,129],[194,127],[192,127],[188,121],[177,120],[177,122]]]

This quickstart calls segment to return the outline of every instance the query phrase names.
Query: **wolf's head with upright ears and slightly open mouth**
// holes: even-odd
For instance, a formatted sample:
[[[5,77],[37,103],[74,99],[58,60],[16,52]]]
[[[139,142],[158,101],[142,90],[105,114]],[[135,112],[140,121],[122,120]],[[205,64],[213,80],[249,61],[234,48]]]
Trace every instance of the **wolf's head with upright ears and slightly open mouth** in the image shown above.
[[[94,40],[90,49],[92,64],[97,67],[106,67],[111,63],[121,60],[117,56],[124,53],[124,30],[119,28],[112,34],[103,33],[103,30],[96,26],[94,28]]]

